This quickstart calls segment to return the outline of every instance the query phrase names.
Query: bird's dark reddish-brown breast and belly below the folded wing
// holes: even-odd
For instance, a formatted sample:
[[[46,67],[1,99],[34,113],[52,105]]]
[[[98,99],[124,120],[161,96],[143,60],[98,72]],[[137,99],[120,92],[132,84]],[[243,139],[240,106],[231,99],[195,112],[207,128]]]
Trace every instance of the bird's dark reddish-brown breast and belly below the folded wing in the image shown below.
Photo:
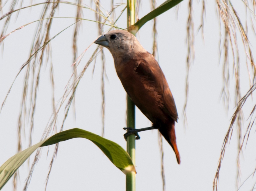
[[[162,96],[154,84],[136,73],[136,61],[115,62],[115,69],[125,91],[141,112],[153,123],[166,119]]]

